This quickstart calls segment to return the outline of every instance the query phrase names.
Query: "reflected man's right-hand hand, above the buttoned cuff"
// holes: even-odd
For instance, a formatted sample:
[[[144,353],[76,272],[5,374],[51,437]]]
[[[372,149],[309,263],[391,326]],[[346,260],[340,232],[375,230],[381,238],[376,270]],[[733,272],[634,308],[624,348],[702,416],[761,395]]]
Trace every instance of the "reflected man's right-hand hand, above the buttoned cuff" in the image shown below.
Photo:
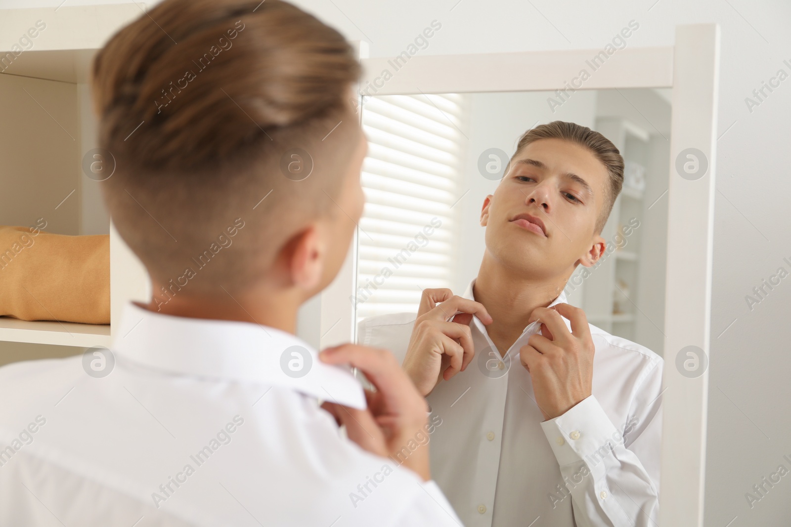
[[[561,315],[571,322],[571,332]],[[551,420],[590,396],[595,347],[588,318],[578,307],[567,303],[537,307],[528,323],[536,320],[541,322],[541,333],[530,337],[519,357],[530,372],[544,420]]]

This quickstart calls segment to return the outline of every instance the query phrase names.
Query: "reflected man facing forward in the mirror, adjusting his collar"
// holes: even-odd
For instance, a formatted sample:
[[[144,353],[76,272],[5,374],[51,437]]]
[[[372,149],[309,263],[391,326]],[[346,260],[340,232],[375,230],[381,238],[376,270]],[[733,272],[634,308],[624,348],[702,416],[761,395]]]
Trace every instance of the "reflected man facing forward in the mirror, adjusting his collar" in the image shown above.
[[[662,360],[562,292],[604,254],[622,184],[601,134],[528,130],[483,201],[467,292],[426,290],[417,316],[360,323],[359,342],[402,359],[441,418],[432,473],[467,527],[656,525]]]

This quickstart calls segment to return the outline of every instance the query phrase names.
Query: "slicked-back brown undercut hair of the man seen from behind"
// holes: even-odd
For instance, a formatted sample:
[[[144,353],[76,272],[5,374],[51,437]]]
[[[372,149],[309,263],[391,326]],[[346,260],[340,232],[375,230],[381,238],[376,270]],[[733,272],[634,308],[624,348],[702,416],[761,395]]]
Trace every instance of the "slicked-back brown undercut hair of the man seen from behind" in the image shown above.
[[[339,32],[280,0],[165,0],[117,32],[93,62],[115,164],[100,185],[151,277],[191,269],[191,294],[238,292],[293,235],[343,214],[359,75]]]

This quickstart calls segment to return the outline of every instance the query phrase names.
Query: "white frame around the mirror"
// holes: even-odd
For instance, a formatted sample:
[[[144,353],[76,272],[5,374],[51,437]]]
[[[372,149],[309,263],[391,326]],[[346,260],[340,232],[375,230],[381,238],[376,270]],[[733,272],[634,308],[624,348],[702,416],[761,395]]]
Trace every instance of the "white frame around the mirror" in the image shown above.
[[[600,50],[528,51],[481,55],[416,55],[383,81],[394,58],[365,58],[361,92],[521,92],[563,89]],[[660,526],[702,527],[706,462],[708,371],[696,378],[676,367],[694,345],[710,356],[711,264],[720,29],[676,27],[672,47],[624,48],[607,58],[581,89],[672,88],[668,189],[668,250],[664,318],[664,377]],[[366,89],[367,88],[367,89]],[[684,149],[703,152],[708,170],[694,181],[676,171]],[[355,341],[357,236],[346,264],[321,297],[322,348]],[[339,309],[347,306],[347,310]]]

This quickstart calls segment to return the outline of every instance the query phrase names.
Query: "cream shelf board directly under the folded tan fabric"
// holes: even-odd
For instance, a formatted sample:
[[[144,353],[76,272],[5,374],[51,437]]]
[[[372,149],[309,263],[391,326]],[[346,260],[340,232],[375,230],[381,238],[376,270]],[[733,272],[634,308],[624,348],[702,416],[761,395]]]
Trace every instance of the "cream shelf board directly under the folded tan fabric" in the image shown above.
[[[109,324],[27,321],[0,317],[0,341],[56,344],[60,346],[110,346]]]

